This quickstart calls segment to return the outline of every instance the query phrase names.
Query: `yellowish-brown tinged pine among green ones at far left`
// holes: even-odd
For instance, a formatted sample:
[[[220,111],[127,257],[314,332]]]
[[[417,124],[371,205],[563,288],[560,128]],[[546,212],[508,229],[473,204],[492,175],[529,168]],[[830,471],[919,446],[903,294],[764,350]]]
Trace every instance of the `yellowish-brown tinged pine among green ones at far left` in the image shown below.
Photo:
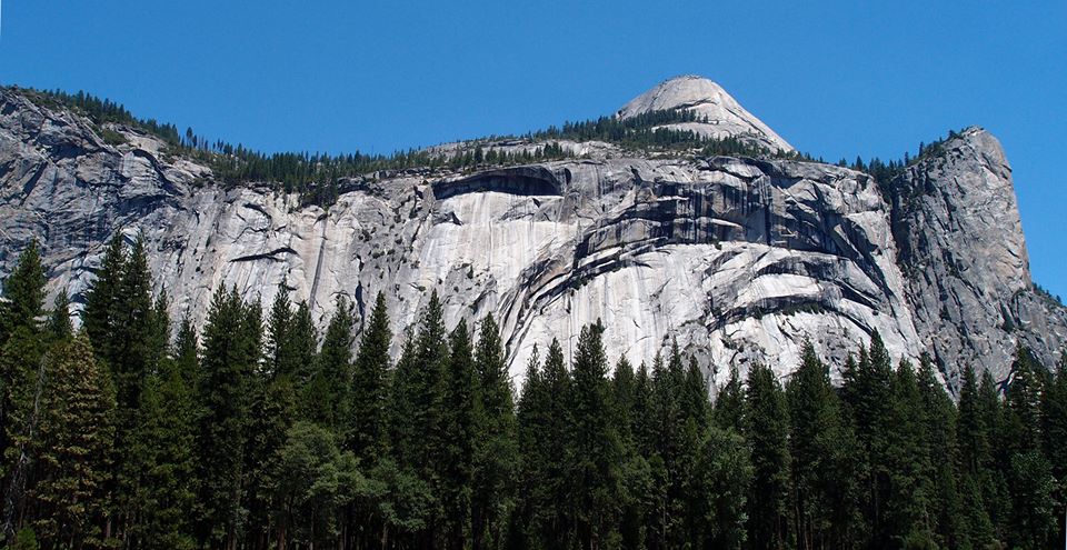
[[[34,528],[49,547],[101,547],[110,503],[116,396],[83,334],[46,359]]]

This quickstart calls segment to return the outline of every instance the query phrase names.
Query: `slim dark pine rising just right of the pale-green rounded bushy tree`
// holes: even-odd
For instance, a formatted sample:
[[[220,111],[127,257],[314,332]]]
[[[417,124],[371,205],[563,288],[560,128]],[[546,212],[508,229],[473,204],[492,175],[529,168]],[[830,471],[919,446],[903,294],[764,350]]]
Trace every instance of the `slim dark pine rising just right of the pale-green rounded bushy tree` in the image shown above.
[[[379,292],[356,354],[348,418],[351,428],[347,448],[363,462],[377,460],[387,447],[385,404],[391,341],[389,311],[385,294]]]

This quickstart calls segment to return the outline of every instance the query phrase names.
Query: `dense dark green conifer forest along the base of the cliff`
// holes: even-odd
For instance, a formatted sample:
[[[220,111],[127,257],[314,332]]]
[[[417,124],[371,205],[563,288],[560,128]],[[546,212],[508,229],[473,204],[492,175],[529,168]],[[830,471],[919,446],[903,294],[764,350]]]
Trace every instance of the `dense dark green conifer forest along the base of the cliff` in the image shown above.
[[[79,323],[36,246],[0,303],[0,491],[11,549],[1057,548],[1067,364],[1011,377],[845,364],[808,347],[710,388],[670,347],[609,364],[598,324],[539,350],[517,392],[491,317],[432,293],[390,356],[379,296],[325,333],[282,286],[168,318],[116,237]],[[266,311],[266,313],[263,313]],[[79,328],[74,329],[73,324]],[[830,372],[840,372],[831,383]],[[714,399],[710,397],[714,396]]]

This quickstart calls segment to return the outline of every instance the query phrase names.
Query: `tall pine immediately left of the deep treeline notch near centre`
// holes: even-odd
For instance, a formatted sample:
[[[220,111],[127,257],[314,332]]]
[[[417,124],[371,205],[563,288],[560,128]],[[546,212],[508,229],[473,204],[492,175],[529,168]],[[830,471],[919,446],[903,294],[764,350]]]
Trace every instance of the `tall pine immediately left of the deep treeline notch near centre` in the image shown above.
[[[500,331],[492,316],[481,322],[475,352],[475,448],[471,494],[472,546],[496,548],[513,506],[519,461],[515,396]]]

